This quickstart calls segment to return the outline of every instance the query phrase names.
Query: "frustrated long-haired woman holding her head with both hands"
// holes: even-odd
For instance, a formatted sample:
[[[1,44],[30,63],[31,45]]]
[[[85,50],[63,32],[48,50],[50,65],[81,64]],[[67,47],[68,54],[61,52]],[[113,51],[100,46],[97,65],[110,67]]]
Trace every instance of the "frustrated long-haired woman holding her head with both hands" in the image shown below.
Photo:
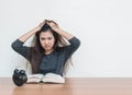
[[[33,35],[33,45],[23,46]],[[63,75],[66,61],[79,45],[78,38],[59,28],[54,21],[45,20],[12,43],[12,48],[30,61],[33,74],[52,72]]]

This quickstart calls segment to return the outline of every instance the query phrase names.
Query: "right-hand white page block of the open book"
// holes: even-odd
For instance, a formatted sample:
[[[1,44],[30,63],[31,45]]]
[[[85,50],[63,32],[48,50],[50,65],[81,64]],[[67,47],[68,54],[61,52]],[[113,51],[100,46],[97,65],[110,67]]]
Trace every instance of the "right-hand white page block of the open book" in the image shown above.
[[[65,79],[62,75],[55,73],[45,74],[42,81],[47,83],[65,83]]]

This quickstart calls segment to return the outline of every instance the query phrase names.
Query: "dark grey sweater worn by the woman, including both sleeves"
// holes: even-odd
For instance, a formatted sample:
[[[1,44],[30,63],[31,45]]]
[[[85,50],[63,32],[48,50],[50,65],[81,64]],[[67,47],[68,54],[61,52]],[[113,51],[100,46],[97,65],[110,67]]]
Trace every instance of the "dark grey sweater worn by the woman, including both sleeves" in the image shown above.
[[[78,38],[73,37],[69,40],[70,45],[61,47],[59,51],[53,51],[50,55],[44,55],[40,63],[40,73],[48,72],[63,75],[63,68],[67,59],[77,50],[80,45]],[[24,43],[16,39],[12,43],[12,48],[30,61],[30,47],[23,46]]]

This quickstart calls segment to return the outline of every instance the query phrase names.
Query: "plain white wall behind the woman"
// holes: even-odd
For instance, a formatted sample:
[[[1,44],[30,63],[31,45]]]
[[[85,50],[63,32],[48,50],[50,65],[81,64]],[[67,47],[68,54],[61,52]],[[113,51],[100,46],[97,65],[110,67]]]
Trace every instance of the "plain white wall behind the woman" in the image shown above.
[[[67,76],[132,78],[131,0],[0,0],[0,76],[25,60],[11,43],[44,19],[81,40]]]

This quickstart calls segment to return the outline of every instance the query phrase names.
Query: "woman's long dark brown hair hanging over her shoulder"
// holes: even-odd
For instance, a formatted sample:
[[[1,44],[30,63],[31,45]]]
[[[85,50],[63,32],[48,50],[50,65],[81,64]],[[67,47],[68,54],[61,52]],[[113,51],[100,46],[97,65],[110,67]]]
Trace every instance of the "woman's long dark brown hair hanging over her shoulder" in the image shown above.
[[[50,21],[50,22],[52,22],[52,21]],[[47,31],[50,31],[53,34],[54,38],[55,38],[55,44],[53,46],[54,50],[57,50],[59,45],[61,46],[66,46],[67,45],[65,39],[61,35],[58,35],[56,32],[54,32],[48,24],[45,23],[42,26],[42,28],[35,34],[35,36],[33,38],[33,41],[32,41],[30,62],[31,62],[31,68],[32,68],[32,73],[33,74],[40,72],[38,67],[40,67],[40,63],[42,61],[43,55],[45,52],[44,48],[41,46],[41,43],[40,43],[40,34],[42,32],[47,32]]]

